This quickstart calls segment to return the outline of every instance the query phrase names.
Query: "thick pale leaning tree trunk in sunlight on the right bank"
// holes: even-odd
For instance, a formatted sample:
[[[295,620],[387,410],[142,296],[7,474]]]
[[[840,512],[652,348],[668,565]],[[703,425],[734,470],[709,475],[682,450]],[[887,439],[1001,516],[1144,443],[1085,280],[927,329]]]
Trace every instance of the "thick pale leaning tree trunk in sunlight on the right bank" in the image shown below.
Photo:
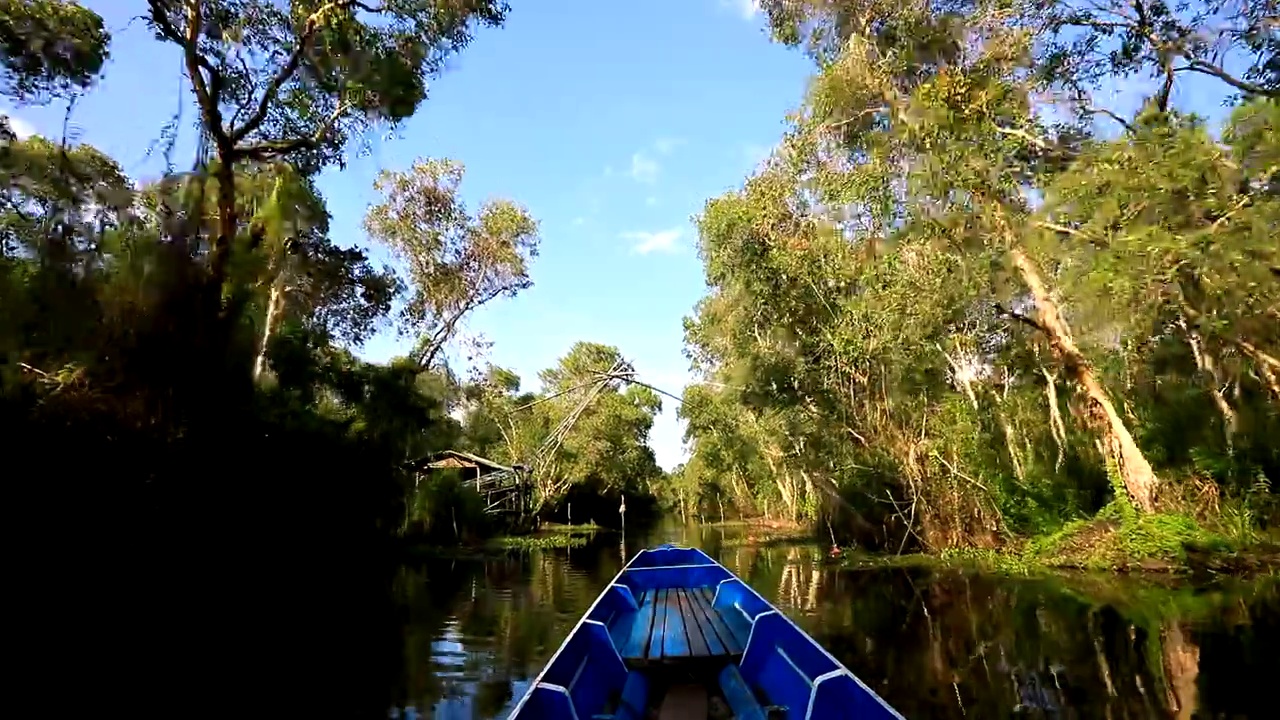
[[[1089,400],[1089,424],[1101,436],[1103,447],[1120,469],[1120,479],[1124,482],[1130,500],[1143,512],[1153,512],[1158,482],[1156,471],[1151,469],[1151,462],[1147,461],[1138,443],[1134,442],[1133,434],[1129,433],[1129,428],[1116,413],[1115,405],[1111,404],[1111,397],[1098,382],[1093,366],[1075,346],[1071,332],[1059,311],[1057,302],[1050,296],[1044,279],[1041,278],[1039,268],[1018,246],[1010,250],[1010,255],[1023,282],[1027,283],[1036,299],[1039,327],[1047,336],[1053,355]]]

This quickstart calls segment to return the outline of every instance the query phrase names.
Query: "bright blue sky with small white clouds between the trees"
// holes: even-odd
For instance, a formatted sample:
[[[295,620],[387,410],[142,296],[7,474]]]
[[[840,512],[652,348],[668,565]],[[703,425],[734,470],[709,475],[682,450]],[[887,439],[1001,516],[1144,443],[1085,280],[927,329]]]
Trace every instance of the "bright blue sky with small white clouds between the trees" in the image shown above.
[[[152,40],[141,0],[82,0],[113,31],[101,85],[79,100],[73,136],[116,158],[136,178],[164,168],[148,147],[187,102],[180,61]],[[643,378],[680,393],[689,380],[681,318],[704,291],[690,222],[741,184],[783,131],[810,65],[772,45],[750,0],[512,0],[504,28],[481,32],[397,133],[374,138],[320,187],[333,236],[364,245],[360,228],[383,168],[452,158],[472,206],[526,205],[541,223],[535,286],[485,307],[468,331],[494,345],[489,360],[527,384],[579,340],[616,345]],[[64,105],[6,110],[15,127],[61,136]],[[195,113],[174,163],[191,163]],[[394,333],[362,355],[407,348]],[[662,465],[682,456],[675,401],[653,446]]]

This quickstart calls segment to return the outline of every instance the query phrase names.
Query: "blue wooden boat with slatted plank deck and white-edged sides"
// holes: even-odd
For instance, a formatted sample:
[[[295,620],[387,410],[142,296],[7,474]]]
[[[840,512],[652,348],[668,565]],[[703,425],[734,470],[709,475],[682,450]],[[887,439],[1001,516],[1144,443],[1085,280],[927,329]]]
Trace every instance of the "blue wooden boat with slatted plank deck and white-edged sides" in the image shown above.
[[[901,719],[705,552],[641,550],[595,600],[509,720]]]

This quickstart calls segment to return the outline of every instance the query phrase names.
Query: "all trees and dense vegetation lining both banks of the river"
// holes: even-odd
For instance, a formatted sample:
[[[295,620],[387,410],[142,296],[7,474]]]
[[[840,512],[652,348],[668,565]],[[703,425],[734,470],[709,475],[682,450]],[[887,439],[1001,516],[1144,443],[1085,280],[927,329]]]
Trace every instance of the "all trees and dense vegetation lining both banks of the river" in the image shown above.
[[[93,669],[15,685],[343,715],[315,688],[376,671],[385,628],[361,623],[388,618],[393,551],[500,529],[412,471],[449,447],[529,465],[557,520],[660,500],[1042,557],[1272,524],[1275,3],[762,5],[817,72],[771,160],[698,219],[704,382],[669,475],[659,393],[617,348],[566,348],[536,392],[467,355],[466,319],[532,282],[524,208],[468,208],[462,165],[421,159],[378,179],[364,238],[334,237],[316,188],[504,3],[138,0],[198,110],[195,161],[146,182],[0,118],[17,655],[47,683],[69,655]],[[10,102],[72,113],[110,50],[77,3],[0,0]],[[1212,92],[1221,127],[1175,102]],[[361,359],[385,328],[412,350]]]

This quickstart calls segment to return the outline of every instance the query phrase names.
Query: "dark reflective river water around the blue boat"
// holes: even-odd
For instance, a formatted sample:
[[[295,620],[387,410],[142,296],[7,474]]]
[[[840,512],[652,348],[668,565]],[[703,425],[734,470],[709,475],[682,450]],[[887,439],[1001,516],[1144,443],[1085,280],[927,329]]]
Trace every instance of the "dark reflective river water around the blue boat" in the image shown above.
[[[663,527],[402,568],[392,717],[506,717],[626,559],[704,548],[906,717],[1277,717],[1275,583],[842,569],[817,544]],[[1270,707],[1268,707],[1270,706]]]

